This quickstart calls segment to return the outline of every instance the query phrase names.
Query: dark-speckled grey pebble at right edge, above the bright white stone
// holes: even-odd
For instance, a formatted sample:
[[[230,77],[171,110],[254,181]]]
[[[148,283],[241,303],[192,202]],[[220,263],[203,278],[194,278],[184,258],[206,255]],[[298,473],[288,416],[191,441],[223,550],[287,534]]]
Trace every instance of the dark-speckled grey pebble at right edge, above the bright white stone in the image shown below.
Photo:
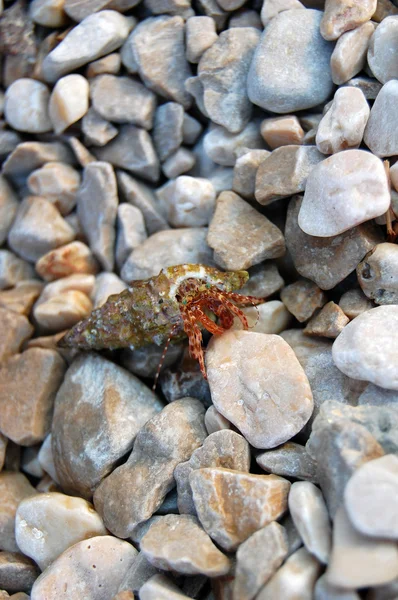
[[[378,244],[357,267],[359,285],[376,304],[398,304],[398,246]]]

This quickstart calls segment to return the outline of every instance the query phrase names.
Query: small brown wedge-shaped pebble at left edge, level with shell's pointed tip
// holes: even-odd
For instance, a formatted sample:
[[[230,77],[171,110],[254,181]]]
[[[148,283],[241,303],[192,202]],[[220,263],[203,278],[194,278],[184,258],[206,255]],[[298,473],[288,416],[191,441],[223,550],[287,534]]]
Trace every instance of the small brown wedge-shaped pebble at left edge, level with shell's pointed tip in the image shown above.
[[[23,315],[0,307],[0,361],[5,361],[20,351],[32,337],[34,328]]]

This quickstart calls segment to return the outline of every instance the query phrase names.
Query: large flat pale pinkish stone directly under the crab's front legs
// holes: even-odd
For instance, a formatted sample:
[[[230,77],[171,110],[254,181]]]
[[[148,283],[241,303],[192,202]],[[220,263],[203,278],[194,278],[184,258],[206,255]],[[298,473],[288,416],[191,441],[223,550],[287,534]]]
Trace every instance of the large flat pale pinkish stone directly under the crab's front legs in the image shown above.
[[[271,361],[272,370],[262,369],[264,361]],[[255,448],[273,448],[289,440],[311,416],[308,380],[278,336],[231,331],[213,337],[207,374],[216,409]]]

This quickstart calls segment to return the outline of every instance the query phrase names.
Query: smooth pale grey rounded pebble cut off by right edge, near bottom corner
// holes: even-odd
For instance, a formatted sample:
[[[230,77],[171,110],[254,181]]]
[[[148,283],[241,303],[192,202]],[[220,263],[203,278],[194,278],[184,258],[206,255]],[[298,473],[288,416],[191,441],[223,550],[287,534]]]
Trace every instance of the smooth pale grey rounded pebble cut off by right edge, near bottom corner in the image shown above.
[[[357,531],[397,539],[397,486],[398,458],[394,454],[365,463],[355,471],[345,488],[344,504]]]

